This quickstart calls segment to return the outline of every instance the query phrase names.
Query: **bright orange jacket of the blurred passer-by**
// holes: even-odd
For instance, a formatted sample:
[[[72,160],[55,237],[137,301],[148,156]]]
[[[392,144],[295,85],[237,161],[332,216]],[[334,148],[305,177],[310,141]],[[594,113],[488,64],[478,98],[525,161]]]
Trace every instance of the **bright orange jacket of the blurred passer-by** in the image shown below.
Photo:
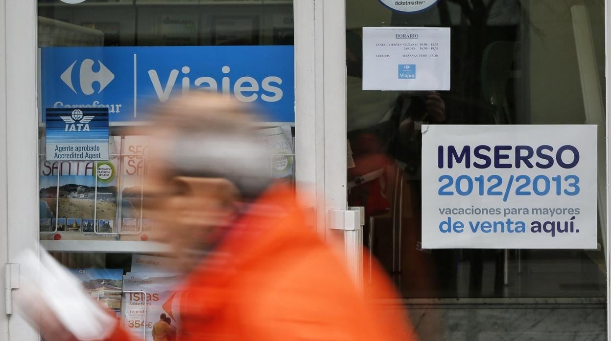
[[[400,310],[362,299],[341,262],[302,221],[290,190],[263,195],[219,255],[189,275],[177,340],[415,340]],[[379,269],[376,274],[379,285],[370,294],[392,297],[389,282]],[[130,335],[117,328],[108,340]]]

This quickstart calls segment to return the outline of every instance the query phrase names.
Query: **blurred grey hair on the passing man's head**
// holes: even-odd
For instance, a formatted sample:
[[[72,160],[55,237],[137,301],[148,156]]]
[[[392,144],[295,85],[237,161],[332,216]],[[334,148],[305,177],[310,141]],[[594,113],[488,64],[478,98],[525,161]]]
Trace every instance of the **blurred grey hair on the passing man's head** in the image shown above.
[[[213,93],[174,99],[159,108],[156,123],[169,129],[161,138],[169,173],[225,178],[245,198],[256,198],[272,181],[266,143],[255,134],[256,113],[244,104]]]

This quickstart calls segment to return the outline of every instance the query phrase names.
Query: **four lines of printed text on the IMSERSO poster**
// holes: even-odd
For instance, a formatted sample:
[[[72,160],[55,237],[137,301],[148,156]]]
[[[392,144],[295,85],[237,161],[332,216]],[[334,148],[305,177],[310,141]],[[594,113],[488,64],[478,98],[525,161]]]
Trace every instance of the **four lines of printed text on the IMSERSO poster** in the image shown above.
[[[483,196],[494,200],[498,198],[503,203],[510,199],[520,199],[529,196],[549,198],[551,196],[564,196],[571,198],[579,195],[579,175],[566,174],[579,164],[579,150],[572,145],[563,145],[554,148],[550,145],[541,146],[511,146],[511,145],[478,145],[478,146],[438,146],[437,167],[447,169],[448,174],[442,174],[437,181],[439,196]],[[556,166],[555,173],[552,167]],[[541,174],[519,174],[519,171],[509,174],[499,171],[498,174],[489,174],[490,169],[539,169]],[[554,168],[554,169],[556,169]],[[475,169],[488,170],[484,174],[450,174],[460,170]],[[471,171],[472,173],[473,171]],[[562,173],[562,175],[560,174]],[[519,201],[517,201],[519,203]],[[462,212],[460,212],[462,211]],[[503,214],[502,219],[477,219],[478,215]],[[444,218],[439,223],[439,231],[444,233],[470,231],[473,233],[547,233],[552,237],[564,233],[579,233],[576,226],[576,215],[579,207],[503,207],[480,209],[478,207],[439,207],[439,214]],[[453,215],[467,215],[468,221],[457,220]],[[527,223],[520,216],[537,215]],[[543,215],[544,219],[541,219]],[[554,215],[564,215],[562,219]],[[474,219],[475,218],[475,219]],[[533,217],[534,218],[534,217]],[[549,219],[549,220],[548,220]],[[560,220],[558,220],[560,219]]]

